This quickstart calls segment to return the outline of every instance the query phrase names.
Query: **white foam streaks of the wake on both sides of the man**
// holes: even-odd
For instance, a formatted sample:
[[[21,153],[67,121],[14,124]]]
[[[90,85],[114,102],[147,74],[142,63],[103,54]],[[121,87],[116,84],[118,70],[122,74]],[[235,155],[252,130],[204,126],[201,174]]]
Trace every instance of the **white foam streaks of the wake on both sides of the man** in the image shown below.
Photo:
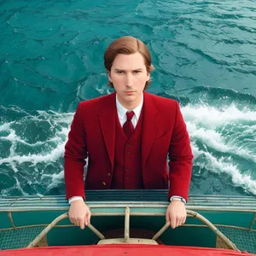
[[[256,195],[256,181],[249,172],[239,170],[238,166],[243,163],[238,163],[231,157],[227,157],[229,154],[234,154],[242,158],[242,162],[248,160],[250,164],[255,163],[256,166],[256,112],[247,108],[238,109],[235,105],[228,108],[187,105],[182,108],[182,113],[192,141],[195,160],[199,155],[203,155],[206,163],[199,163],[201,166],[207,166],[209,171],[217,172],[219,175],[227,173],[235,186],[241,186]],[[9,141],[12,145],[9,155],[0,158],[0,166],[6,164],[15,173],[22,170],[20,169],[21,165],[22,168],[26,168],[26,165],[28,167],[36,166],[42,176],[42,182],[44,183],[44,177],[46,178],[45,182],[49,181],[47,177],[51,177],[49,189],[56,187],[63,183],[63,169],[60,160],[63,158],[73,113],[38,111],[38,115],[27,114],[26,119],[28,122],[47,120],[50,124],[49,137],[44,142],[28,143],[26,137],[29,137],[29,134],[24,131],[24,136],[21,139],[17,136],[18,132],[15,131],[17,126],[13,126],[13,122],[0,125],[0,139]],[[15,120],[15,123],[19,123],[19,120]],[[196,147],[197,142],[203,145],[201,149]],[[46,150],[42,150],[44,153],[40,154],[18,154],[16,151],[18,143],[28,146],[27,148],[44,147]],[[51,145],[49,148],[47,148],[48,143]],[[54,148],[52,145],[55,145]],[[210,153],[211,150],[208,150],[209,148],[217,151],[216,155],[220,156],[218,158],[213,156]],[[38,166],[41,163],[42,166]],[[49,168],[50,171],[44,171],[47,166],[53,167]],[[30,179],[30,183],[36,183],[32,177],[28,177],[28,179]],[[17,183],[17,187],[22,191],[20,183]],[[26,192],[22,191],[22,194],[25,195]]]

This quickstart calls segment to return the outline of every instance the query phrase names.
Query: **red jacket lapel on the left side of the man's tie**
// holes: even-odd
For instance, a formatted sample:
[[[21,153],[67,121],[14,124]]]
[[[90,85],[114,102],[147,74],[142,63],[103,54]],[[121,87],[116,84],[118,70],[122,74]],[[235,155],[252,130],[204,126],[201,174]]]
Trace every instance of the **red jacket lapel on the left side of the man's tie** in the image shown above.
[[[108,157],[111,162],[111,167],[113,170],[114,162],[114,144],[115,144],[115,112],[116,112],[116,93],[113,92],[106,98],[106,102],[99,114],[100,124],[102,127],[102,134],[106,148],[108,150]]]

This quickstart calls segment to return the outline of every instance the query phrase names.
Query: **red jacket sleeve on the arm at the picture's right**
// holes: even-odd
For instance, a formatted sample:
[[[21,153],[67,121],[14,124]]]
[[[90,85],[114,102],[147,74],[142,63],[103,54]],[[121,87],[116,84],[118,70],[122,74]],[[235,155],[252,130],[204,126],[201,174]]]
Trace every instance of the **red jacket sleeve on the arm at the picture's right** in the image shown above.
[[[172,195],[179,195],[188,201],[193,165],[192,160],[193,154],[189,141],[189,133],[179,104],[176,102],[176,119],[169,148],[169,199]]]

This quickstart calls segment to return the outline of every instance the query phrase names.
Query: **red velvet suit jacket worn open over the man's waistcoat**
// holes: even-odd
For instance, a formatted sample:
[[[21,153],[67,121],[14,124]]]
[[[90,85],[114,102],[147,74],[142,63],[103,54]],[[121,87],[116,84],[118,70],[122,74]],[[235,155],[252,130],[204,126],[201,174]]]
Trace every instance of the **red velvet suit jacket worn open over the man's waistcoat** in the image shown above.
[[[116,93],[79,103],[65,146],[67,199],[90,189],[109,189],[113,173]],[[168,180],[169,194],[188,200],[193,154],[189,134],[176,101],[143,92],[142,173],[144,189],[160,189]],[[86,185],[87,184],[87,185]],[[163,188],[164,189],[164,188]]]

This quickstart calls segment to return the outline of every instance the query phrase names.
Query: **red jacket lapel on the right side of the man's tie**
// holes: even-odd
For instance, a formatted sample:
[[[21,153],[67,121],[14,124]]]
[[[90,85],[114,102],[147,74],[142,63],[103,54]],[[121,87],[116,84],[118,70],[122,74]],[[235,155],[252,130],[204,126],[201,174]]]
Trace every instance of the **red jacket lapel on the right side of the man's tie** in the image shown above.
[[[142,164],[145,166],[155,132],[159,122],[158,110],[154,105],[154,100],[147,92],[143,93],[143,140],[142,140]]]

